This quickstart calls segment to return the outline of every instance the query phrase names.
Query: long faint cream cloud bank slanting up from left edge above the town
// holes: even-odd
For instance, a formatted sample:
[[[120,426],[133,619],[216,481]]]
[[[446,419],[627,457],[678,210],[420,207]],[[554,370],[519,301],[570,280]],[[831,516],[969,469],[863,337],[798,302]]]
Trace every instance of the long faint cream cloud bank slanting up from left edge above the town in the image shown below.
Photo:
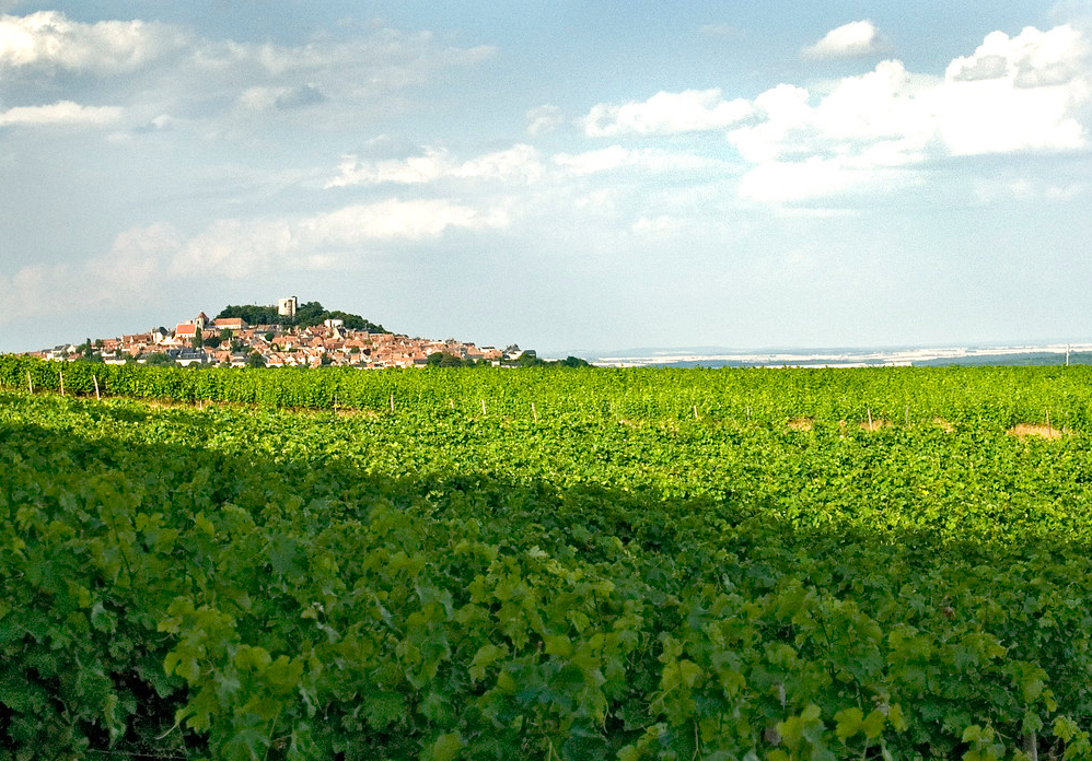
[[[0,272],[0,325],[16,317],[158,303],[167,289],[190,278],[237,280],[275,269],[344,271],[384,243],[422,242],[449,230],[509,223],[502,204],[390,199],[303,218],[218,220],[191,237],[166,223],[135,227],[90,261],[28,265],[10,277]]]

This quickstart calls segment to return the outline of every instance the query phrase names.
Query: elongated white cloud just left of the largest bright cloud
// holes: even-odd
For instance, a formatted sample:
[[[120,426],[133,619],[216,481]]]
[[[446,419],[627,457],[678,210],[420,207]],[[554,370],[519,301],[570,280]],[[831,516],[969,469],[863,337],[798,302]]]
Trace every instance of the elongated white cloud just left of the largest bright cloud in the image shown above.
[[[743,98],[725,101],[720,90],[659,92],[643,103],[600,104],[582,119],[589,137],[619,133],[672,134],[720,129],[747,118],[752,106]]]

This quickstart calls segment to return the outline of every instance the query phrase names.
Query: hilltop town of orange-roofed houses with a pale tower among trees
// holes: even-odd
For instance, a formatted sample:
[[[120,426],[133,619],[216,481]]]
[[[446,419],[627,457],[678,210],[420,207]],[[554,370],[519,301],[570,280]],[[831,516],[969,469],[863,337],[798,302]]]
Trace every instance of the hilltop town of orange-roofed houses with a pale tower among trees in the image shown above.
[[[410,338],[390,332],[357,315],[316,312],[315,307],[322,311],[316,302],[300,304],[295,296],[290,296],[281,298],[276,309],[272,306],[228,307],[217,318],[201,312],[193,319],[178,323],[173,330],[156,327],[147,332],[88,339],[83,344],[61,344],[31,354],[47,360],[90,359],[106,364],[135,362],[222,367],[382,368],[539,362],[534,351],[523,351],[514,344],[501,350],[455,339]],[[297,318],[304,309],[312,316],[337,316],[326,317],[315,325],[298,324]],[[269,321],[251,325],[243,317],[223,316],[244,312]]]

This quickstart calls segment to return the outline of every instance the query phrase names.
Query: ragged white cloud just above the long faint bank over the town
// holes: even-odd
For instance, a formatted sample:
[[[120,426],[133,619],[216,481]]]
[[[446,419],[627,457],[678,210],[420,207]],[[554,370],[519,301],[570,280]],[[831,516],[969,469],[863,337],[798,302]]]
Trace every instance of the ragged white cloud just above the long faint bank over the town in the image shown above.
[[[533,183],[543,174],[538,152],[526,144],[487,153],[460,162],[442,148],[425,148],[423,154],[408,159],[361,162],[348,155],[341,161],[340,173],[326,183],[327,188],[351,185],[422,185],[453,177],[458,179],[495,179],[509,183]]]

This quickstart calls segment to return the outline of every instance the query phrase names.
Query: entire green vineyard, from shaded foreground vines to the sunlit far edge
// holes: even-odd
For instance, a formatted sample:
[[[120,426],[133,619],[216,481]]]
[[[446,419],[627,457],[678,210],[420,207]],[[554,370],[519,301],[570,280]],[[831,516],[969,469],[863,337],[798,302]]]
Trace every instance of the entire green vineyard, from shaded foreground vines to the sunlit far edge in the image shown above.
[[[0,586],[4,761],[1089,759],[1092,368],[2,356]]]

